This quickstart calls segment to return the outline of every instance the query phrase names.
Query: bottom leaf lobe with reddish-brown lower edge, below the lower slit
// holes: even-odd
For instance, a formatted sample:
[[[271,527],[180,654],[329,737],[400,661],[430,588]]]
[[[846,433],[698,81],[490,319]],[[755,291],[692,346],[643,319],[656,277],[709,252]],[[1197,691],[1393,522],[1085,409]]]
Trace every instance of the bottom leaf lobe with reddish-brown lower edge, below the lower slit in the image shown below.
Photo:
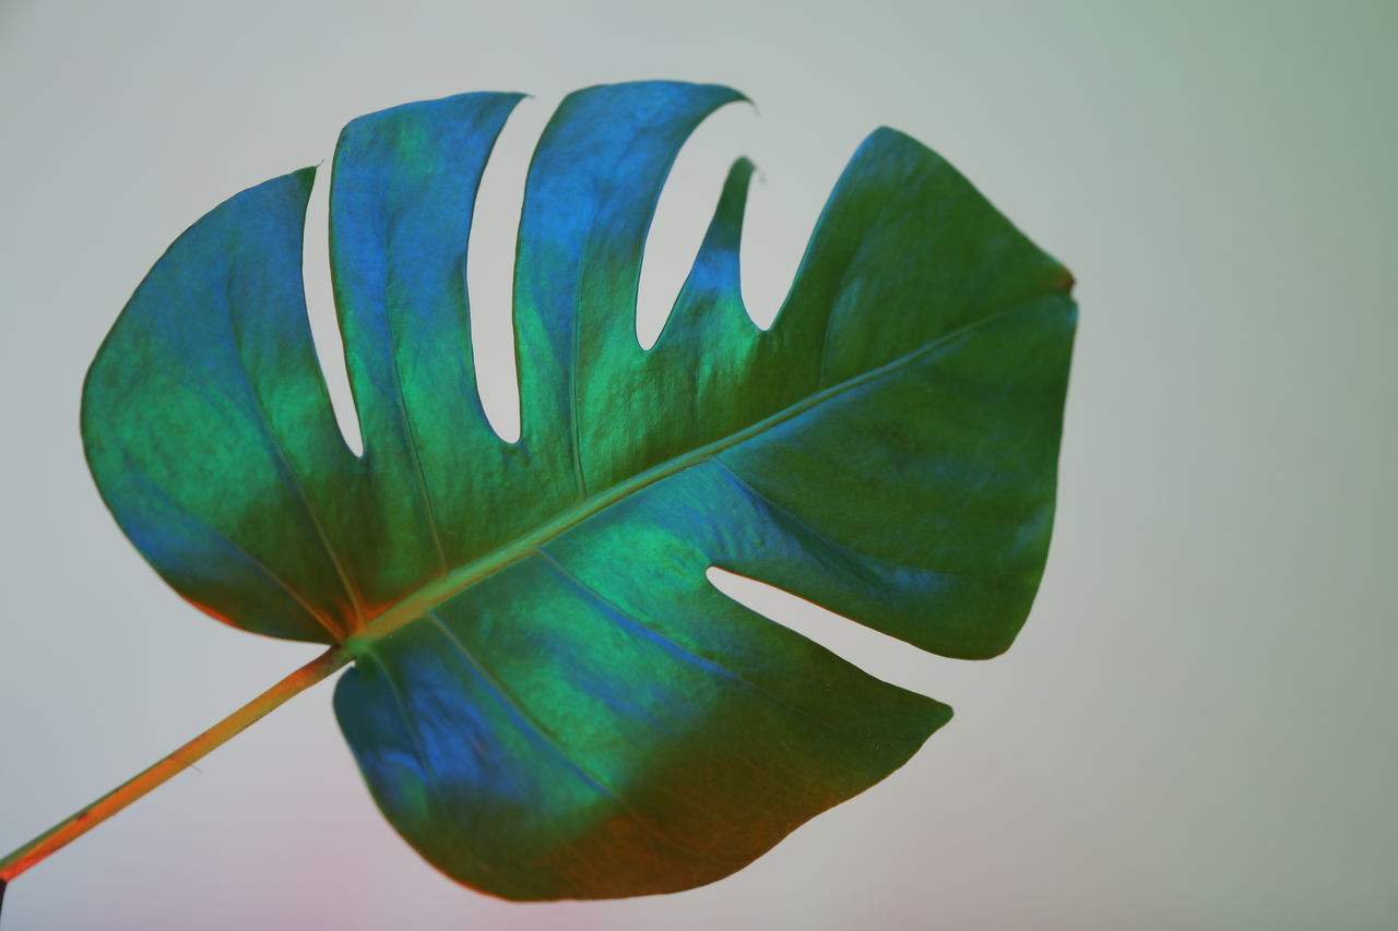
[[[703,552],[684,555],[691,572],[632,614],[535,554],[341,678],[375,798],[431,863],[509,899],[688,889],[951,717],[727,600]]]

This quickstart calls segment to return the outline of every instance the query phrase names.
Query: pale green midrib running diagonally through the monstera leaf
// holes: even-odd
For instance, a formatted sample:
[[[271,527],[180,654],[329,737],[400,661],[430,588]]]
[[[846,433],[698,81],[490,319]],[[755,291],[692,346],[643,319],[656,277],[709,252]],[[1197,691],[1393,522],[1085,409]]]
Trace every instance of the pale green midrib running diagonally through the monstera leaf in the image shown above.
[[[885,362],[884,365],[870,369],[868,372],[863,372],[851,379],[846,379],[844,382],[832,384],[830,387],[821,389],[819,391],[808,394],[795,404],[784,407],[776,414],[765,417],[763,419],[751,424],[749,426],[745,426],[741,431],[735,431],[717,440],[692,449],[688,453],[681,453],[679,456],[675,456],[663,463],[651,466],[650,468],[636,472],[635,475],[632,475],[625,481],[617,482],[604,492],[586,498],[577,505],[573,505],[572,507],[559,512],[552,520],[540,524],[531,533],[521,534],[520,537],[516,537],[503,547],[496,547],[487,555],[478,559],[473,559],[471,562],[452,570],[446,576],[440,576],[429,582],[424,587],[418,589],[408,597],[398,601],[394,607],[389,608],[383,614],[369,621],[363,628],[359,629],[358,633],[345,639],[344,640],[345,649],[355,656],[358,656],[365,650],[369,650],[375,642],[386,637],[398,628],[403,628],[414,621],[421,619],[429,609],[452,598],[453,596],[466,591],[467,589],[481,582],[487,576],[491,576],[499,572],[500,569],[505,569],[510,563],[519,562],[520,559],[524,559],[533,555],[534,552],[538,552],[540,548],[548,541],[554,540],[555,537],[563,534],[568,530],[572,530],[577,524],[605,510],[607,507],[615,505],[617,502],[629,498],[642,488],[653,485],[677,472],[681,472],[689,468],[691,466],[698,466],[699,463],[703,463],[705,460],[712,459],[713,456],[717,456],[719,453],[733,446],[737,446],[744,440],[752,439],[754,436],[758,436],[759,433],[763,433],[779,424],[784,424],[786,421],[800,414],[804,414],[805,411],[819,407],[821,404],[833,397],[837,397],[861,384],[874,382],[882,377],[884,375],[888,375],[889,372],[895,372],[903,368],[905,365],[909,365],[916,359],[921,358],[923,355],[927,355],[932,349],[945,345],[946,342],[955,340],[956,337],[965,335],[972,330],[976,330],[979,327],[987,326],[988,323],[993,323],[1012,313],[1016,313],[1018,310],[1022,310],[1033,305],[1035,302],[1042,301],[1046,296],[1051,296],[1051,294],[1055,294],[1055,291],[1036,295],[1035,298],[1030,298],[1028,301],[1015,303],[1002,310],[988,313],[983,317],[972,320],[970,323],[962,324],[953,330],[944,333],[935,340],[923,344],[921,347],[913,349],[911,352],[907,352],[905,355],[892,359],[891,362]]]

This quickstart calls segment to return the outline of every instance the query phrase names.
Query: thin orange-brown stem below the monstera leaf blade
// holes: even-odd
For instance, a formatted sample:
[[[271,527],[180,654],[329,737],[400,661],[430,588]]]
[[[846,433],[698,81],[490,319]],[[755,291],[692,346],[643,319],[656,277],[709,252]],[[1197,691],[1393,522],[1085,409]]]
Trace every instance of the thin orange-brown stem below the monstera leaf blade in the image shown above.
[[[14,853],[0,858],[0,890],[34,864],[81,837],[145,793],[162,784],[171,776],[187,769],[210,751],[222,746],[264,714],[280,707],[287,699],[330,677],[352,658],[354,654],[344,646],[330,647],[173,753],[166,755],[95,802],[60,821]]]

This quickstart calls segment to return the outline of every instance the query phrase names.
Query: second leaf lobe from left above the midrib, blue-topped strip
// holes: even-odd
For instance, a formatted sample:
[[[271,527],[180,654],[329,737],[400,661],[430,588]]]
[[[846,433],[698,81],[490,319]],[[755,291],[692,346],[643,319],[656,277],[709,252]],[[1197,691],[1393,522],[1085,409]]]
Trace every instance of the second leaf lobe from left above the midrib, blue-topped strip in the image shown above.
[[[475,391],[466,247],[485,161],[519,99],[394,108],[354,120],[336,147],[330,267],[366,466],[358,512],[341,509],[354,523],[337,531],[370,616],[493,542],[473,533],[503,505],[509,453]],[[552,500],[566,499],[565,488]],[[540,505],[516,513],[537,520],[551,499]]]

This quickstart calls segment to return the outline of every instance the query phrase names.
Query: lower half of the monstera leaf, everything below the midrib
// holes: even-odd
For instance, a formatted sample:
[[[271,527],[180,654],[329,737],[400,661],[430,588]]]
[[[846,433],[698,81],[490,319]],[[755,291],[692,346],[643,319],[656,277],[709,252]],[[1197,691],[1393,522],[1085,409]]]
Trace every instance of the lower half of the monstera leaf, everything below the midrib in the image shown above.
[[[1061,390],[1064,359],[1009,356],[1005,376],[1004,348],[1069,331],[1067,302],[1047,298],[903,356],[600,510],[442,604],[431,626],[376,643],[336,709],[379,805],[463,882],[605,897],[719,879],[882,779],[951,710],[752,615],[705,569],[773,580],[949,656],[998,653],[1033,597],[1047,516],[993,541],[987,566],[965,558],[976,540],[920,540],[913,521],[839,502],[1022,510],[1042,492],[1026,489],[1023,463],[1053,449],[1055,422],[1015,411]],[[938,396],[990,372],[997,390],[969,391],[973,403]],[[935,400],[939,418],[899,428]],[[987,422],[1004,429],[956,442],[958,424]],[[884,470],[872,489],[849,466],[851,442],[857,466]],[[812,486],[823,506],[791,503]],[[948,568],[867,555],[895,541]],[[452,653],[474,681],[453,679]]]

